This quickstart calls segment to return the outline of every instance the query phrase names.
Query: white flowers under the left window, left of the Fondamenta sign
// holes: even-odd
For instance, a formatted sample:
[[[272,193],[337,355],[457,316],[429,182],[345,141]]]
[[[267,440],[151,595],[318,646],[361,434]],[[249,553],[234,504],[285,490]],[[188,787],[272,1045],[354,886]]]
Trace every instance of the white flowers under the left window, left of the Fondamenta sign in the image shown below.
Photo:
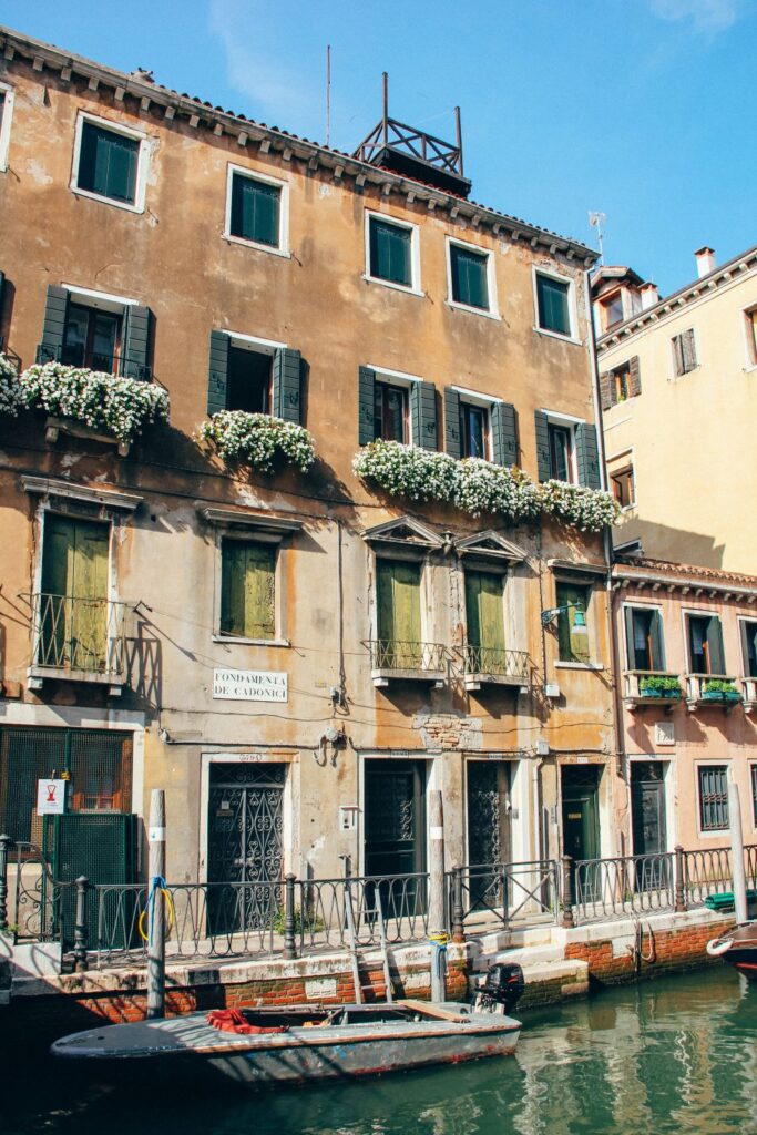
[[[28,367],[19,387],[23,403],[31,410],[74,419],[112,434],[126,445],[145,426],[167,422],[170,410],[168,390],[162,386],[59,362]]]

